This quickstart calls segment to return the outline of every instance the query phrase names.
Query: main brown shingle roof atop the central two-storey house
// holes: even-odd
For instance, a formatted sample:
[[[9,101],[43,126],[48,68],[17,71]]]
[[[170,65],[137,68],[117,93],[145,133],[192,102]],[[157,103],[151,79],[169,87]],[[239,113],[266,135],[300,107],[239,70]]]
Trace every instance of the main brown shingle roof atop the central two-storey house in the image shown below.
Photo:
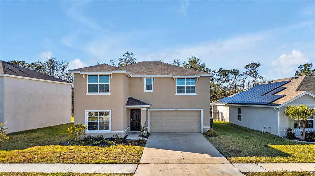
[[[157,61],[144,61],[135,64],[125,65],[122,67],[114,67],[107,64],[95,65],[84,67],[71,71],[114,71],[114,70],[127,70],[131,75],[203,75],[208,74],[203,71],[187,69],[163,62]]]

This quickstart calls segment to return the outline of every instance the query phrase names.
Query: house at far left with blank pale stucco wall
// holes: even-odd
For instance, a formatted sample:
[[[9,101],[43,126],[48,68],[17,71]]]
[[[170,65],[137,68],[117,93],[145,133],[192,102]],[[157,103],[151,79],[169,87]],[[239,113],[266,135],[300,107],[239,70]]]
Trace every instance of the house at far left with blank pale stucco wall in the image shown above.
[[[70,123],[72,85],[0,60],[0,122],[8,133]]]

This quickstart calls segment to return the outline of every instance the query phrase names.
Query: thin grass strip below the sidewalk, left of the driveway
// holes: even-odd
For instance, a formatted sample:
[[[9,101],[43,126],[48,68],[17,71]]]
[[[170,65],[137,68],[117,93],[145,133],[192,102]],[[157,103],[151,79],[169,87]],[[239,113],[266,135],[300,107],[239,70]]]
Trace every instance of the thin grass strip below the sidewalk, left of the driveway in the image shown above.
[[[131,176],[134,173],[39,173],[39,172],[0,172],[4,176]]]

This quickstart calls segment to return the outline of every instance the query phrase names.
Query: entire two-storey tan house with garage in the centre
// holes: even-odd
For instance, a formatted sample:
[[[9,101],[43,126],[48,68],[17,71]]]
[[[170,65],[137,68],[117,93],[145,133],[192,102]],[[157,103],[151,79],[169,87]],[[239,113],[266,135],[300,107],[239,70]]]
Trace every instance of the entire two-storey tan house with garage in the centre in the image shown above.
[[[153,61],[101,64],[70,73],[74,123],[87,125],[87,135],[124,136],[140,131],[145,122],[149,132],[209,129],[209,73]]]

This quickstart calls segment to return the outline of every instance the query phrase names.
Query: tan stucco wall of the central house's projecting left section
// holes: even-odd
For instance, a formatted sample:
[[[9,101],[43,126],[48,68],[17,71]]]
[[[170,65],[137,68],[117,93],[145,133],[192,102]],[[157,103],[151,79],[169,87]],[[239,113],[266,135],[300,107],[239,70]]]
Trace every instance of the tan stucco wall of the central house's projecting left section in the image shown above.
[[[128,88],[128,81],[124,79],[123,73],[114,73],[110,78],[111,95],[86,95],[87,76],[74,74],[74,124],[85,124],[85,110],[112,110],[111,131],[124,131],[127,127],[126,102],[128,95],[125,95]],[[127,125],[128,126],[128,125]],[[103,135],[111,137],[106,133],[87,133],[87,135]]]

